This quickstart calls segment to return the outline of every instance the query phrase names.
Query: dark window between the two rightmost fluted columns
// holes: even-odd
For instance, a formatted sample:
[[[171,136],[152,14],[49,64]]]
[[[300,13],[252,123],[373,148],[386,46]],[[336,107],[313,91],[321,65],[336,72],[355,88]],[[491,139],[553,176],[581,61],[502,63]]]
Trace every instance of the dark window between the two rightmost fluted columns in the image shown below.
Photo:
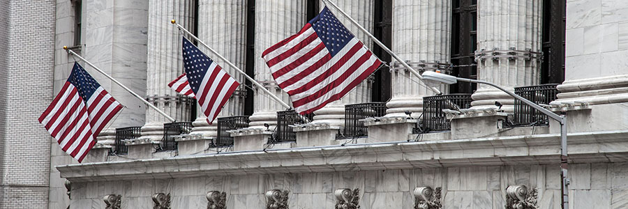
[[[477,1],[452,1],[451,17],[451,69],[452,75],[477,79],[475,50],[477,49]],[[459,82],[452,84],[450,93],[473,93],[477,84]]]

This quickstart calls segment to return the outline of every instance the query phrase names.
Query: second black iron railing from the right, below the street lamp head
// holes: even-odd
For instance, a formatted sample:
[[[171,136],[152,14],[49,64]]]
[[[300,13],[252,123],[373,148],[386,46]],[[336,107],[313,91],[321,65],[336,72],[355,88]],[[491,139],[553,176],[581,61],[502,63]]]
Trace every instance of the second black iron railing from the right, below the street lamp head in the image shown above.
[[[423,132],[450,130],[451,123],[447,120],[447,114],[443,109],[467,109],[471,107],[470,93],[456,93],[448,95],[435,95],[423,98]],[[421,130],[418,130],[419,132]],[[417,130],[413,130],[417,132]]]

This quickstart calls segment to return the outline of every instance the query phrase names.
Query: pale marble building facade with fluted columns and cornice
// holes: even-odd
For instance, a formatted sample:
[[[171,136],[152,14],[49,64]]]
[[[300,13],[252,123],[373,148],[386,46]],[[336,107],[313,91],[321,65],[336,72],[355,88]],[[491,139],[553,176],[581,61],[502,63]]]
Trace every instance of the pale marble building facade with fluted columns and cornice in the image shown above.
[[[374,8],[380,1],[332,1],[366,29],[375,30]],[[514,53],[543,50],[544,1],[548,0],[469,1],[477,9],[473,19],[477,24],[477,40],[474,40],[477,79],[511,90],[541,83],[541,56],[530,53],[529,59],[509,59],[491,55],[501,50],[514,50]],[[421,63],[450,63],[454,54],[452,39],[456,38],[452,35],[453,5],[461,1],[386,2],[392,12],[390,47],[394,52],[417,70],[433,70],[421,67]],[[15,7],[8,5],[4,10]],[[390,63],[389,70],[391,85],[385,87],[391,91],[387,113],[366,119],[368,137],[336,139],[335,134],[343,129],[345,104],[371,101],[373,79],[367,79],[342,100],[315,112],[311,123],[294,127],[296,141],[281,144],[268,144],[267,139],[273,135],[277,123],[276,111],[285,109],[256,87],[248,91],[240,86],[240,93],[230,98],[220,116],[246,114],[246,97],[253,97],[250,127],[232,133],[232,147],[209,147],[216,139],[216,124],[209,125],[200,111],[193,111],[195,106],[188,98],[167,87],[168,82],[183,72],[181,33],[170,20],[176,19],[197,33],[239,68],[251,68],[258,82],[289,103],[287,94],[274,84],[260,54],[299,31],[311,15],[308,11],[311,5],[319,5],[320,9],[324,3],[57,0],[56,15],[45,13],[51,17],[51,24],[56,25],[56,29],[50,29],[55,36],[48,38],[47,47],[54,45],[54,50],[47,52],[50,63],[46,65],[54,74],[39,81],[50,83],[47,88],[52,88],[46,90],[46,97],[37,98],[37,102],[50,102],[68,76],[70,64],[75,61],[63,50],[63,45],[68,45],[133,91],[146,95],[177,121],[193,121],[193,129],[175,139],[177,150],[156,152],[156,147],[163,143],[163,123],[168,121],[104,76],[87,69],[126,108],[98,136],[98,144],[82,164],[63,153],[54,139],[48,140],[49,137],[41,134],[45,133],[43,127],[29,126],[38,131],[29,137],[46,142],[40,152],[50,153],[45,154],[50,155],[50,161],[43,160],[41,163],[46,167],[36,171],[49,178],[37,181],[38,187],[29,187],[38,188],[34,190],[47,203],[28,208],[115,205],[103,201],[107,195],[114,195],[108,196],[113,200],[119,195],[121,208],[153,208],[158,201],[152,196],[158,193],[167,194],[171,208],[207,208],[208,203],[220,201],[220,195],[208,196],[212,191],[225,192],[225,208],[264,208],[275,201],[281,202],[284,197],[289,208],[335,208],[336,204],[346,202],[336,196],[338,189],[345,188],[356,191],[361,208],[419,208],[417,203],[427,200],[421,200],[424,197],[415,191],[425,191],[421,190],[425,187],[438,191],[442,208],[504,208],[511,201],[507,187],[517,185],[536,191],[539,208],[560,208],[558,123],[504,127],[500,121],[514,111],[514,100],[493,88],[478,86],[470,108],[481,113],[451,115],[451,131],[415,134],[412,127],[421,115],[423,97],[433,93],[408,70],[394,63]],[[0,3],[0,8],[3,6]],[[45,6],[41,7],[53,7]],[[561,93],[551,107],[568,118],[569,208],[625,208],[628,207],[628,60],[625,59],[628,3],[567,0],[565,8],[565,82],[558,86]],[[373,47],[364,33],[331,10],[367,47]],[[249,19],[251,13],[255,14],[253,19]],[[248,30],[255,33],[253,39],[248,37],[251,33]],[[201,49],[239,81],[244,81],[243,76],[214,54]],[[0,66],[10,64],[0,60]],[[445,94],[450,91],[444,85],[439,89]],[[0,98],[9,97],[0,91]],[[487,110],[495,108],[495,101],[504,104],[501,111]],[[0,102],[0,108],[5,106]],[[412,113],[408,115],[405,111]],[[264,127],[265,124],[269,127]],[[0,122],[0,128],[8,127],[3,125]],[[126,142],[128,155],[111,155],[115,128],[130,126],[142,127],[142,136]],[[6,155],[0,153],[3,154],[0,157]],[[4,159],[0,158],[0,164],[6,164]],[[0,172],[6,173],[11,174]],[[10,184],[3,176],[0,183],[2,191],[9,191],[5,185]],[[281,197],[267,196],[272,189],[278,189]],[[435,201],[435,195],[432,197],[429,201]],[[0,206],[10,201],[0,197]]]

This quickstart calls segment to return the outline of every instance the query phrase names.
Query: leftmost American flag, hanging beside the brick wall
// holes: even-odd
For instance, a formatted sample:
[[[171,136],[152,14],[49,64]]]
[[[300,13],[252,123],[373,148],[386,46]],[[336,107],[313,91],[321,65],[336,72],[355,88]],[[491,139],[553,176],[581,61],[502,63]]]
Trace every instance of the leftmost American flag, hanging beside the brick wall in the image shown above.
[[[61,150],[82,162],[96,144],[96,136],[122,109],[122,105],[100,86],[81,65],[74,68],[66,84],[39,117]]]

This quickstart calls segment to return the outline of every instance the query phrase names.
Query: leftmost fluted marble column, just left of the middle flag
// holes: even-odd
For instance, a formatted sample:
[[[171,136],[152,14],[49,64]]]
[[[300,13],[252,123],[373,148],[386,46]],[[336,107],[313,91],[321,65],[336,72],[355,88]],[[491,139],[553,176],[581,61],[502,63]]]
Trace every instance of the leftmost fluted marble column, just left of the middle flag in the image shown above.
[[[174,19],[186,29],[193,31],[193,0],[150,0],[147,58],[147,99],[177,121],[190,120],[190,102],[177,96],[167,84],[183,73],[181,35]],[[167,119],[154,109],[146,111],[146,125],[142,127],[142,138],[160,141],[163,123]]]

